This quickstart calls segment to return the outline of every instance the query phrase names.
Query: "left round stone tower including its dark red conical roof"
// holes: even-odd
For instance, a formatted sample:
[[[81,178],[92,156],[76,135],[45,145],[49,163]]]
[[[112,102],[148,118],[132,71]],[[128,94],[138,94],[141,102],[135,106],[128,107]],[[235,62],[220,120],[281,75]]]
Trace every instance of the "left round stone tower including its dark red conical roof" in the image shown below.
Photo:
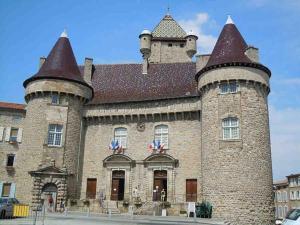
[[[93,89],[80,74],[65,32],[43,61],[38,73],[24,82],[25,147],[18,159],[18,176],[24,181],[24,188],[18,190],[24,193],[17,196],[28,198],[33,190],[33,203],[39,201],[37,193],[52,183],[57,188],[58,200],[76,198],[82,109],[93,97]],[[28,182],[28,171],[34,186]]]

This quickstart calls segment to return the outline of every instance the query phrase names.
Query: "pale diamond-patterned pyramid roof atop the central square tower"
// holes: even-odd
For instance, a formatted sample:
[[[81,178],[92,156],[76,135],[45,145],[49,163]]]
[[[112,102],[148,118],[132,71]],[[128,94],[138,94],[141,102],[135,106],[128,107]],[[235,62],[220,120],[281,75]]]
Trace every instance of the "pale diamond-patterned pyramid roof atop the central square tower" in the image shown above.
[[[186,32],[167,14],[152,31],[153,38],[185,38]]]

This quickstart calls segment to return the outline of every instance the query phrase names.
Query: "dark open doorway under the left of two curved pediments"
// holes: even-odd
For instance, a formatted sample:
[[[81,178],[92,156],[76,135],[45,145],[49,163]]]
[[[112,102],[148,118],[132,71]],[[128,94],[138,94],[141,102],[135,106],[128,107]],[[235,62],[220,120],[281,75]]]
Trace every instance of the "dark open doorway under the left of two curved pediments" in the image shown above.
[[[125,171],[113,171],[111,183],[111,197],[113,201],[122,201],[125,190]]]

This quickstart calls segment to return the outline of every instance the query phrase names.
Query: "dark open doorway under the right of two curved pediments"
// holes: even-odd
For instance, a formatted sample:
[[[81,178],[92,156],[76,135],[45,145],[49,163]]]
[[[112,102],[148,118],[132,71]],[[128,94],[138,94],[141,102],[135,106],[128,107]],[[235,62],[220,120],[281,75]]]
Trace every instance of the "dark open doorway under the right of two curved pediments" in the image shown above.
[[[168,175],[166,170],[154,171],[153,201],[161,201],[161,194],[164,191],[164,201],[167,201]]]

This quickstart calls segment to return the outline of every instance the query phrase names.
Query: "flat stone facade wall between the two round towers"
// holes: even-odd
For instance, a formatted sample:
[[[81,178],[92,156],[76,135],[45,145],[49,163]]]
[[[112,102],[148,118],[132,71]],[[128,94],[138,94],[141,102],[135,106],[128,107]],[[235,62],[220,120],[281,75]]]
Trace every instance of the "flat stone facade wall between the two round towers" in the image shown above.
[[[178,100],[184,104],[185,100]],[[168,101],[165,101],[166,103]],[[193,100],[190,103],[192,104]],[[140,106],[136,110],[131,110],[134,115],[145,113],[143,110],[143,104],[146,103],[133,103],[132,109],[135,106]],[[152,102],[152,109],[154,112],[159,113],[164,108],[159,106],[162,103]],[[193,104],[199,105],[198,102]],[[154,107],[156,105],[156,107]],[[159,105],[159,106],[158,106]],[[171,104],[174,107],[174,103]],[[178,104],[179,108],[182,107]],[[126,107],[130,104],[126,104]],[[121,106],[112,106],[122,111]],[[125,107],[125,108],[126,108]],[[199,110],[198,116],[176,118],[170,117],[152,117],[152,120],[143,117],[143,123],[145,124],[144,131],[137,129],[137,124],[141,121],[139,116],[131,118],[129,121],[119,121],[118,118],[114,120],[98,120],[95,119],[96,115],[103,115],[101,106],[94,107],[85,112],[85,115],[93,115],[93,119],[87,121],[84,135],[84,162],[83,162],[83,177],[82,177],[82,190],[81,199],[84,199],[86,193],[86,181],[87,178],[97,178],[97,192],[103,191],[106,194],[106,198],[110,198],[110,183],[111,183],[111,168],[103,167],[103,160],[112,154],[108,146],[114,137],[114,129],[117,127],[127,128],[127,148],[124,152],[126,156],[129,156],[132,160],[135,160],[135,166],[131,168],[125,168],[120,164],[115,169],[124,169],[128,173],[129,182],[127,194],[131,199],[132,188],[138,187],[143,201],[152,201],[153,190],[153,168],[145,167],[143,160],[145,160],[151,153],[147,150],[147,146],[154,139],[154,127],[156,125],[165,124],[169,127],[169,149],[166,153],[175,159],[179,160],[178,166],[174,168],[166,168],[168,170],[168,200],[172,201],[185,201],[185,185],[186,179],[197,179],[198,181],[198,199],[201,199],[201,132],[200,132],[200,120]],[[110,110],[113,110],[110,108]],[[168,108],[168,107],[166,107]],[[178,109],[174,107],[175,111]],[[103,109],[102,109],[103,110]],[[146,109],[146,110],[149,110]],[[171,110],[170,110],[171,111]],[[97,112],[97,113],[96,113]],[[102,112],[102,113],[99,113]],[[112,114],[113,115],[113,114]],[[126,117],[126,113],[123,114]],[[184,114],[183,114],[184,115]],[[195,114],[193,114],[195,115]],[[191,166],[192,165],[192,166]],[[123,168],[124,167],[124,168]],[[157,168],[157,167],[156,167]],[[125,184],[126,186],[126,184]]]

